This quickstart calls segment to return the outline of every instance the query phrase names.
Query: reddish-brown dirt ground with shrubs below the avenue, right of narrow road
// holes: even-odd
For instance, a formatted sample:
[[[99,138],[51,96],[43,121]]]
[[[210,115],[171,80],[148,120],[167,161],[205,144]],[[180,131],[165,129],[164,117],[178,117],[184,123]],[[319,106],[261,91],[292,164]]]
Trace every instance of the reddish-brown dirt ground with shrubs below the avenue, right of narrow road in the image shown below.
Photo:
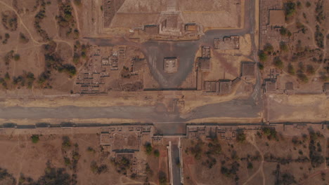
[[[184,139],[184,181],[186,184],[314,184],[314,181],[325,184],[329,178],[328,130],[321,130],[321,134],[326,133],[321,137],[310,137],[309,130],[312,128],[284,132],[284,135],[278,132],[277,139],[269,139],[262,130],[245,131],[243,142]],[[318,151],[323,158],[316,167],[309,160],[309,146],[314,138],[317,146],[322,147]],[[214,144],[220,145],[218,154],[212,151]]]

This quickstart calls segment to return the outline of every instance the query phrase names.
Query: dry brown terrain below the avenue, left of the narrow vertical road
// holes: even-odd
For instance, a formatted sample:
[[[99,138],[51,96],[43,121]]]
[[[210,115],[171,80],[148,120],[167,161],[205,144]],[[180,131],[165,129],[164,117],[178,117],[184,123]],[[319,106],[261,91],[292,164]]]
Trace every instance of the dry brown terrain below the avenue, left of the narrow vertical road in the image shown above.
[[[96,134],[1,135],[0,143],[0,184],[158,184],[157,174],[167,172],[167,149],[162,145],[153,146],[160,158],[146,155],[141,147],[138,157],[146,156],[149,170],[147,176],[136,177],[124,174],[132,160],[113,162],[112,151],[99,146]]]

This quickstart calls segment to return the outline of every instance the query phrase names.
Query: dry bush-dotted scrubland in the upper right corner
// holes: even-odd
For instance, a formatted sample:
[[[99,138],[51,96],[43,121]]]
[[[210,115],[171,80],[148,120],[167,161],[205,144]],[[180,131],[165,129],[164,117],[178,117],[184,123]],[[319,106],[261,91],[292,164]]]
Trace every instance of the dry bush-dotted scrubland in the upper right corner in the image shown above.
[[[290,74],[285,77],[307,88],[309,81],[328,80],[325,46],[328,25],[325,23],[325,1],[285,1],[285,25],[278,28],[280,39],[266,40],[259,51],[259,69],[276,67]],[[271,60],[273,62],[271,62]],[[308,84],[308,85],[306,85]]]

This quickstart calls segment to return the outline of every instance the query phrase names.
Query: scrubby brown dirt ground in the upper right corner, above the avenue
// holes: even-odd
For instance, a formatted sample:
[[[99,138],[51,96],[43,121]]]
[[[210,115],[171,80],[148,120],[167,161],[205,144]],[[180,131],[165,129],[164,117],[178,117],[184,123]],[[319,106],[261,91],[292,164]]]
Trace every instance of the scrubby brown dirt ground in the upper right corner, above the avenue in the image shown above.
[[[269,2],[264,1],[262,8],[266,8]],[[282,1],[282,6],[287,2]],[[326,67],[328,66],[327,35],[329,31],[325,16],[328,15],[329,4],[327,1],[291,2],[296,5],[295,13],[285,19],[283,28],[287,29],[292,36],[284,36],[280,30],[276,37],[271,37],[270,33],[269,36],[262,34],[263,46],[260,48],[266,50],[266,44],[273,46],[272,54],[264,61],[265,68],[262,76],[266,78],[269,69],[278,67],[274,63],[280,58],[283,64],[278,67],[282,70],[278,78],[282,83],[294,83],[294,88],[301,93],[321,93],[323,83],[328,81]],[[261,17],[262,21],[267,19],[264,19],[264,15]],[[322,39],[319,39],[319,35],[323,36]],[[281,48],[280,44],[287,48]],[[279,89],[282,88],[279,87]]]

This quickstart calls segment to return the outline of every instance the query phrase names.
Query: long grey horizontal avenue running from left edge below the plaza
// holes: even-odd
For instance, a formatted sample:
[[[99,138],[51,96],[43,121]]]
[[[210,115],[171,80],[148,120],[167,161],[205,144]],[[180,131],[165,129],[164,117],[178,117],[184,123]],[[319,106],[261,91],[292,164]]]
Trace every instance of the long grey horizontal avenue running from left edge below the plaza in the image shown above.
[[[200,118],[257,118],[262,104],[252,98],[207,104],[192,109],[187,114],[168,112],[164,104],[149,107],[0,107],[3,119],[41,119],[41,118],[122,118],[148,123],[185,122]]]

